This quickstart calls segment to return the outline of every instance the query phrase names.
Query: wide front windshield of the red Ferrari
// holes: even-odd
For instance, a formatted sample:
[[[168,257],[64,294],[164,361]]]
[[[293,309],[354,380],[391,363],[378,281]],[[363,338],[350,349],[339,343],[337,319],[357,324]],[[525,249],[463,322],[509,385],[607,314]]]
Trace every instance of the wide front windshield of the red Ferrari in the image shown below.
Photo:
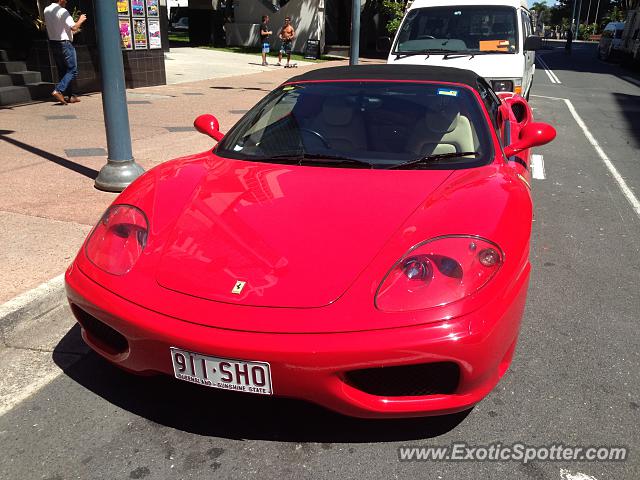
[[[469,168],[493,155],[472,90],[437,83],[284,85],[216,147],[241,160],[342,168]]]

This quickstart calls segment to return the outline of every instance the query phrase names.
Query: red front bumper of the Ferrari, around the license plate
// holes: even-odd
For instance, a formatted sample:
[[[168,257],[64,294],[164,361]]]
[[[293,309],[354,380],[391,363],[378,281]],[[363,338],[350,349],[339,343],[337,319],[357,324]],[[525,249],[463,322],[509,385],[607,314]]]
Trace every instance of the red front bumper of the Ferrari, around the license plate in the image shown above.
[[[66,289],[84,340],[125,370],[173,376],[170,347],[263,361],[271,365],[275,395],[307,400],[356,417],[393,418],[459,412],[491,391],[513,356],[528,279],[529,266],[500,298],[453,320],[322,334],[255,333],[185,322],[111,293],[74,266],[67,271]],[[83,321],[83,312],[121,334],[126,339],[123,348],[109,348],[93,334]],[[458,366],[459,381],[453,393],[372,395],[355,388],[345,375],[360,369],[435,362]]]

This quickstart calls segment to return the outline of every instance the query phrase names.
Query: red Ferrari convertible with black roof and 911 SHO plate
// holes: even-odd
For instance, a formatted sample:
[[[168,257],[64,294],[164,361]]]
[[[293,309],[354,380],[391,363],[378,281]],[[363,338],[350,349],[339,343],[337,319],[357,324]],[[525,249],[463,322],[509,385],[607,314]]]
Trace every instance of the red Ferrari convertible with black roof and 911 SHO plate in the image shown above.
[[[357,417],[468,409],[505,373],[529,281],[531,147],[466,70],[292,78],[136,180],[66,273],[84,340],[137,374]]]

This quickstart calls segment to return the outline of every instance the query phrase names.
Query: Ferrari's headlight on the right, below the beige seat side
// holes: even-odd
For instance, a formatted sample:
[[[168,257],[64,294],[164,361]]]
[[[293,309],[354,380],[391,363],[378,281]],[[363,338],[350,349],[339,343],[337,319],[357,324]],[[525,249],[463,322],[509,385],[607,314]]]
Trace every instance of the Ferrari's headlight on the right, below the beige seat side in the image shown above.
[[[486,285],[503,259],[500,247],[483,238],[451,235],[427,240],[389,270],[375,305],[385,312],[406,312],[457,302]]]

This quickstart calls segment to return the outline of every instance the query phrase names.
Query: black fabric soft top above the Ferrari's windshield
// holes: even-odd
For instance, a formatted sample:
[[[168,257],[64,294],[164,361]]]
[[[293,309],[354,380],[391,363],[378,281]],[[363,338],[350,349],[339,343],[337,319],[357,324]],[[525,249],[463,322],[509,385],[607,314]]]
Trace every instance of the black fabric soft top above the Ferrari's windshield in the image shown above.
[[[407,80],[451,82],[478,88],[480,77],[471,70],[426,65],[353,65],[311,70],[285,83],[331,80]]]

